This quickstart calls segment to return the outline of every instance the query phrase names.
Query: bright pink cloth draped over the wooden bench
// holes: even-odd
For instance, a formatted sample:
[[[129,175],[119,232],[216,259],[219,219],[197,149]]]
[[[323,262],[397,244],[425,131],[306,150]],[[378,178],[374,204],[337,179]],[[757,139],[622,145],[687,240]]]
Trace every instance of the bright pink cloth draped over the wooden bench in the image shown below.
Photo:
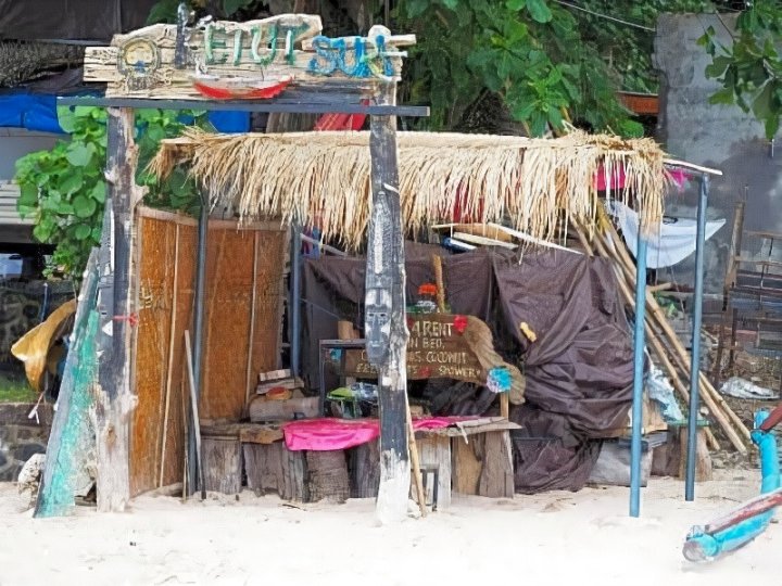
[[[413,419],[413,429],[438,430],[471,417],[422,417]],[[377,419],[305,419],[282,426],[286,446],[292,451],[302,449],[325,451],[346,449],[380,437]]]

